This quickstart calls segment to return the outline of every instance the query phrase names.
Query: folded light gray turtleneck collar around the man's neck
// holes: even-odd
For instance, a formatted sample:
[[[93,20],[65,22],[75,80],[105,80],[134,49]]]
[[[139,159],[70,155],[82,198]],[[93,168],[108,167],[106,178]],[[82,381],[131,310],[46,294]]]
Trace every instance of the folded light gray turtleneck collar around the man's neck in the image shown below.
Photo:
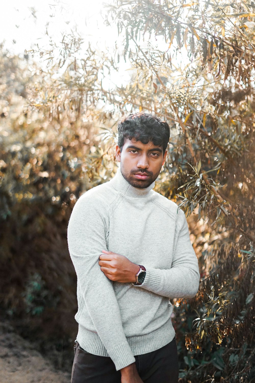
[[[127,197],[147,197],[151,195],[150,191],[155,186],[155,181],[151,183],[147,188],[136,188],[130,185],[129,182],[123,177],[120,167],[115,174],[115,176],[110,180],[111,185],[115,190],[124,194]]]

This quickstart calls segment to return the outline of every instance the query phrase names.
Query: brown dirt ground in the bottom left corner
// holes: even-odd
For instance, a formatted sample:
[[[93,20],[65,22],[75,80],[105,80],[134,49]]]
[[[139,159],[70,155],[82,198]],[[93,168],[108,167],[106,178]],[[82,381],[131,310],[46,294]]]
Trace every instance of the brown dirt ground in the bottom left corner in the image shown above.
[[[68,373],[55,370],[33,346],[0,323],[1,383],[70,383]]]

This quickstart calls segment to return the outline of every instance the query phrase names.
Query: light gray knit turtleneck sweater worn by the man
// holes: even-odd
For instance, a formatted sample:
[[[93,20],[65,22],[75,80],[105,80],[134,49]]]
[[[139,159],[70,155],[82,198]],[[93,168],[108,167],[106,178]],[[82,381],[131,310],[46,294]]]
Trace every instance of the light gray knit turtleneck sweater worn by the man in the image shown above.
[[[116,370],[135,362],[134,355],[171,342],[169,298],[192,298],[198,291],[198,261],[184,212],[154,185],[133,187],[118,168],[109,182],[78,198],[68,223],[77,340],[91,354],[112,358]],[[98,264],[102,250],[143,265],[142,285],[109,280]]]

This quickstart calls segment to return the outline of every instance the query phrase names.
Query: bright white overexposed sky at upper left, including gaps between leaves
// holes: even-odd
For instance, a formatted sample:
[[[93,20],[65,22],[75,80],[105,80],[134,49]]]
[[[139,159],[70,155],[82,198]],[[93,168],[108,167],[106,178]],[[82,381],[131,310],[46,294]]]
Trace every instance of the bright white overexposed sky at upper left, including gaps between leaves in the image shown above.
[[[4,46],[15,54],[24,54],[25,49],[39,47],[49,48],[49,36],[56,42],[62,41],[64,33],[71,33],[71,30],[80,34],[84,39],[84,49],[87,49],[88,41],[100,51],[109,48],[110,53],[117,59],[117,52],[120,55],[119,71],[112,72],[109,79],[104,79],[104,87],[114,88],[115,85],[125,85],[130,80],[131,64],[125,63],[122,38],[118,37],[117,26],[106,26],[100,15],[102,3],[110,3],[113,0],[5,0],[2,4],[2,18],[0,23],[1,41]],[[47,33],[45,34],[47,28]],[[145,35],[146,36],[146,35]],[[157,41],[150,38],[150,43],[158,45],[158,49],[165,51],[169,43],[165,43],[161,36]],[[116,43],[117,42],[117,43]],[[116,49],[117,44],[117,49]],[[130,42],[131,44],[131,42]],[[141,47],[147,47],[148,43],[142,40]],[[81,52],[82,55],[82,52]],[[185,54],[184,54],[185,56]],[[184,56],[180,56],[181,61]],[[39,60],[36,56],[34,59]],[[186,61],[187,62],[187,61]],[[178,62],[180,65],[180,62]],[[41,64],[44,67],[44,63]],[[65,70],[63,67],[62,70]]]

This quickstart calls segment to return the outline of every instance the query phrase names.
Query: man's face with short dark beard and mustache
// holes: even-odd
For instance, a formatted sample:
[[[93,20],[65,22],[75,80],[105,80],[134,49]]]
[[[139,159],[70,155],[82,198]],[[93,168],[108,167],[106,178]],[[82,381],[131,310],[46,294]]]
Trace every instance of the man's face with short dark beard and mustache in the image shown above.
[[[120,162],[122,175],[136,188],[146,188],[156,180],[166,155],[167,150],[163,153],[162,146],[156,146],[152,141],[143,144],[135,138],[126,138],[121,152],[116,145],[116,159]]]

